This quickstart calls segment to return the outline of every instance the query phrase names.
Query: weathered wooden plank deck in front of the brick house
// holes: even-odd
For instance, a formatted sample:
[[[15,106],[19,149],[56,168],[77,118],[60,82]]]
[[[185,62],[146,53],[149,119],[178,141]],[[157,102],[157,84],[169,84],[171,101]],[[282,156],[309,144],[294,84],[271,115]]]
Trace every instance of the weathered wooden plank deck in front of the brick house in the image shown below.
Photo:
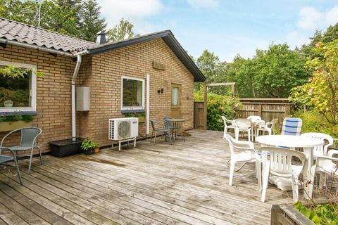
[[[266,202],[254,165],[235,172],[222,133],[190,131],[175,145],[137,142],[137,148],[67,158],[44,156],[44,165],[20,161],[0,169],[1,224],[270,224],[270,207],[292,203],[292,193],[270,186]],[[301,197],[302,197],[301,192]]]

